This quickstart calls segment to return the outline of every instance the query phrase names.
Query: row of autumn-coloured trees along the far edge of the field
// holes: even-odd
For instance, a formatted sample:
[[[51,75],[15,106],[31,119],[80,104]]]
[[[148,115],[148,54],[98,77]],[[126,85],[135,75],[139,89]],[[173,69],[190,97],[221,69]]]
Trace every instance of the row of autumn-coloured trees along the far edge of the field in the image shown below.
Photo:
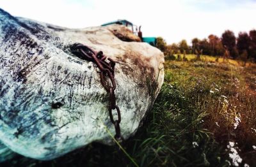
[[[202,54],[212,56],[225,56],[233,59],[242,59],[244,61],[256,60],[256,30],[240,32],[236,37],[233,31],[226,30],[221,37],[210,34],[208,38],[202,40],[193,38],[192,45],[188,45],[186,40],[179,43],[167,45],[166,41],[158,37],[157,48],[164,55],[173,54]]]

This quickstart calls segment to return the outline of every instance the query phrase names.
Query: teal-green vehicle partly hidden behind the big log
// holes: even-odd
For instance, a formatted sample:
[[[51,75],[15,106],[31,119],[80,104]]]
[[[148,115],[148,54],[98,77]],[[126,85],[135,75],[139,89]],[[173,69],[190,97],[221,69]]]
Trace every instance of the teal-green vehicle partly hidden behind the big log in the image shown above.
[[[141,26],[139,27],[139,30],[138,30],[137,25],[134,25],[132,24],[132,22],[129,22],[127,20],[116,20],[114,22],[108,22],[106,24],[102,24],[101,26],[106,26],[111,24],[125,25],[126,27],[128,27],[128,29],[132,31],[132,33],[134,33],[136,36],[139,36],[141,41],[149,43],[153,47],[156,47],[156,37],[142,37],[142,32],[140,31]]]

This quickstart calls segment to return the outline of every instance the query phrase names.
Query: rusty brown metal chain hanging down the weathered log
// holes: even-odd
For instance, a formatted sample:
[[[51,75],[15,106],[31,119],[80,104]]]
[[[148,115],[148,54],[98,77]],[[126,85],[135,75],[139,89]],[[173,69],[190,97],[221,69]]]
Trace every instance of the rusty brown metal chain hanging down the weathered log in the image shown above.
[[[100,69],[100,82],[104,89],[109,93],[109,118],[112,124],[115,126],[115,139],[118,142],[122,142],[123,138],[121,136],[120,131],[120,122],[121,122],[121,113],[119,107],[116,105],[116,97],[115,97],[115,61],[111,58],[107,58],[106,55],[103,54],[102,51],[95,52],[91,48],[82,45],[82,44],[74,44],[71,47],[71,51],[73,54],[77,55],[77,57],[84,59],[86,61],[94,62],[97,67]],[[109,62],[106,62],[108,60]],[[109,80],[111,84],[109,84]],[[113,117],[113,110],[116,110],[117,119],[115,120]]]

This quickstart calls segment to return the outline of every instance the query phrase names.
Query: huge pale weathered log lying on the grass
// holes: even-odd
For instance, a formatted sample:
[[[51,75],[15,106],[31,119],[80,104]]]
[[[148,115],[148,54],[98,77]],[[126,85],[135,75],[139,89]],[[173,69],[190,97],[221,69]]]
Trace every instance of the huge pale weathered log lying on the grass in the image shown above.
[[[164,78],[164,55],[157,48],[122,41],[108,27],[68,29],[0,9],[0,142],[13,152],[49,160],[91,142],[113,144],[99,69],[72,54],[74,43],[116,61],[125,139],[152,108]]]

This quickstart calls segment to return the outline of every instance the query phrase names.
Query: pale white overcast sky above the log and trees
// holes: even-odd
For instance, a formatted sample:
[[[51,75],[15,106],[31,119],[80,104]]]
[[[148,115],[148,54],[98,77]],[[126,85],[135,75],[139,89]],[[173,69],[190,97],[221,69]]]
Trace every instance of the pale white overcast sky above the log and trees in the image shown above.
[[[169,44],[256,29],[256,0],[1,0],[0,8],[74,28],[126,19],[142,25],[143,36],[162,36]]]

